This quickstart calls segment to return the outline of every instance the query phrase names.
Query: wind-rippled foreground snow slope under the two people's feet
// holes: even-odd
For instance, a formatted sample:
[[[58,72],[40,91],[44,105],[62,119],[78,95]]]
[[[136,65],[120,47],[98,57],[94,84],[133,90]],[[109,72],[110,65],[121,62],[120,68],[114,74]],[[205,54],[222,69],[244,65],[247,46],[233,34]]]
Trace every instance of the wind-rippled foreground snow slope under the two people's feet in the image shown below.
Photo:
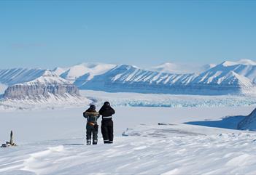
[[[182,124],[139,126],[131,132],[126,131],[126,137],[116,137],[113,145],[104,145],[100,140],[98,145],[88,147],[81,145],[79,138],[1,149],[0,173],[256,173],[255,133],[225,129],[211,131],[202,126],[193,126],[194,132],[190,132],[187,131],[189,128]],[[200,133],[204,130],[200,128],[206,128],[206,133],[212,134]],[[217,134],[223,132],[225,134]]]

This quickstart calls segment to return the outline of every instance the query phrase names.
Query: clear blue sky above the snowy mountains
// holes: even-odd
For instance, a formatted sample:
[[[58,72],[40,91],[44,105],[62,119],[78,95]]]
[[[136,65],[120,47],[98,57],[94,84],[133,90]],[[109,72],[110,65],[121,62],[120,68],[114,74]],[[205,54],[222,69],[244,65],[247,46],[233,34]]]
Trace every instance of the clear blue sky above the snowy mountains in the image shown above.
[[[0,1],[0,68],[255,60],[256,1]]]

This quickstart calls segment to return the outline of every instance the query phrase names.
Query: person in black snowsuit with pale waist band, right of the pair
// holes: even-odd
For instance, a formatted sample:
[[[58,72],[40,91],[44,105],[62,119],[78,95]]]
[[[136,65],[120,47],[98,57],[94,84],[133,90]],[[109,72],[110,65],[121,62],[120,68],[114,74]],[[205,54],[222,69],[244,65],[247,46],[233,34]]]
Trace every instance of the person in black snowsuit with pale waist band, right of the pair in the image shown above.
[[[101,133],[105,144],[112,144],[114,139],[112,115],[115,110],[110,106],[109,102],[104,102],[104,105],[98,111],[102,115]]]

